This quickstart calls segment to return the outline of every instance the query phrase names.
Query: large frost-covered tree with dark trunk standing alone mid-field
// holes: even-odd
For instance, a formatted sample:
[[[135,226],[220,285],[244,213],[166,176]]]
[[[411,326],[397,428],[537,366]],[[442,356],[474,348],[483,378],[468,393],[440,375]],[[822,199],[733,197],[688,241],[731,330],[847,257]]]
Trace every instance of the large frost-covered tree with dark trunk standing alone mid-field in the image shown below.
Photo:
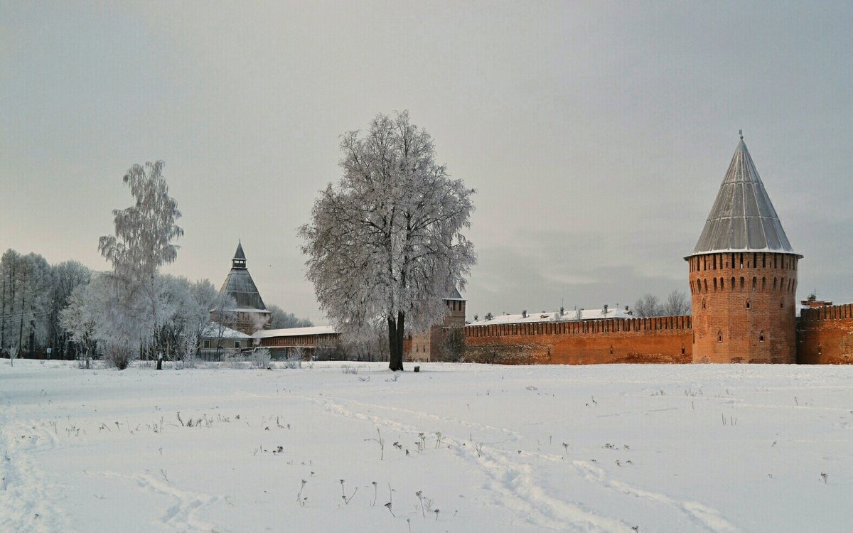
[[[402,370],[406,327],[440,322],[443,298],[464,287],[476,263],[462,234],[473,189],[436,163],[432,137],[408,112],[378,115],[364,135],[346,133],[340,148],[343,177],[299,229],[308,279],[342,333],[385,322],[389,368]]]

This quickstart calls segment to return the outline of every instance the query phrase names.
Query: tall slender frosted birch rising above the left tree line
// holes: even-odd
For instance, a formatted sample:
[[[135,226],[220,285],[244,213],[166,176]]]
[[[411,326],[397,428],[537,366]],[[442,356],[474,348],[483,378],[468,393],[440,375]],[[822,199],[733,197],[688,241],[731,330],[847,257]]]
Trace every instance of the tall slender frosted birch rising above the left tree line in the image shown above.
[[[109,306],[113,334],[108,345],[122,357],[139,346],[146,356],[154,356],[154,333],[168,314],[159,305],[157,273],[177,258],[178,246],[172,241],[183,235],[183,229],[177,226],[181,211],[169,196],[163,166],[163,161],[131,166],[124,182],[135,204],[114,210],[115,235],[98,241],[98,250],[113,265]]]

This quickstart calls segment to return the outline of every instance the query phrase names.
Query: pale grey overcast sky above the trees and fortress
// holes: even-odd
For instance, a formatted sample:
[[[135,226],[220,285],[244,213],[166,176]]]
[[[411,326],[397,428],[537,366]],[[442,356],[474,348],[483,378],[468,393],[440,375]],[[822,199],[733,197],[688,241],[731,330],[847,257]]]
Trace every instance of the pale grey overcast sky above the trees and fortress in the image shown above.
[[[742,128],[804,297],[853,301],[853,8],[768,3],[0,3],[0,248],[107,264],[165,159],[166,271],[324,323],[296,228],[339,135],[409,109],[476,188],[468,316],[688,289]]]

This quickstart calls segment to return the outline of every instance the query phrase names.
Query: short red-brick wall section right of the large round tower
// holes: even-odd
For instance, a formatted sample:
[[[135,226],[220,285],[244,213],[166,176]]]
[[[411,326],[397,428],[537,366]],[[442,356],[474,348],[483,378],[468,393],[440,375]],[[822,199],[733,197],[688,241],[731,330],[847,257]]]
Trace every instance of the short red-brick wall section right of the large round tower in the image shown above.
[[[797,362],[853,363],[853,304],[800,311],[797,320]]]

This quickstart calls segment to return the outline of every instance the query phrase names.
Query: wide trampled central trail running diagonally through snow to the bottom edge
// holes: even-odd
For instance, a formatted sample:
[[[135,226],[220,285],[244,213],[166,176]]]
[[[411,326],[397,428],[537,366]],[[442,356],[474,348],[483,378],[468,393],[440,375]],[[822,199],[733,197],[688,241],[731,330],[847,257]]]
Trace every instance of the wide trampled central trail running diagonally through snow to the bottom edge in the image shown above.
[[[421,429],[415,426],[346,408],[344,403],[351,402],[340,398],[324,396],[320,398],[306,397],[306,399],[318,403],[327,412],[338,416],[366,420],[376,426],[392,427],[398,432],[409,433],[413,436],[421,433]],[[352,403],[360,407],[370,407],[377,410],[388,409],[375,404]],[[431,414],[409,409],[391,408],[391,410],[427,419],[438,418]],[[462,424],[461,420],[450,419],[445,421]],[[492,426],[485,427],[496,431],[512,432],[508,429],[501,430],[501,428]],[[442,434],[442,442],[446,443],[458,458],[485,474],[489,480],[485,486],[495,492],[496,504],[520,513],[530,524],[548,530],[565,531],[566,527],[571,526],[577,531],[624,531],[631,533],[630,526],[621,520],[601,516],[584,508],[579,503],[563,501],[548,495],[547,491],[537,484],[531,466],[514,461],[513,455],[485,446],[478,455],[473,447],[463,446],[463,440],[464,438],[460,439],[449,434]]]

